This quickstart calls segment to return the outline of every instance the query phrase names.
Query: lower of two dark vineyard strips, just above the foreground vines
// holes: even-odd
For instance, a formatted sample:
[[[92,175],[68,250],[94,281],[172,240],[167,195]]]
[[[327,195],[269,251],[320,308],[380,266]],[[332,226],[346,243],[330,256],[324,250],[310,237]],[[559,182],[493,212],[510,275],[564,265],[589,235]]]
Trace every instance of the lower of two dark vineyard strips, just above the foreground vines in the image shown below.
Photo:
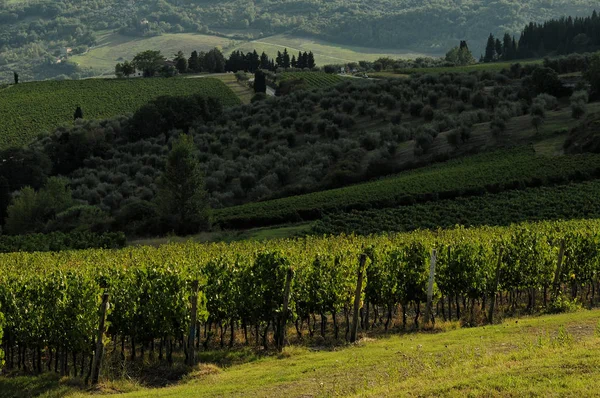
[[[408,232],[456,225],[510,225],[523,221],[600,218],[600,181],[527,188],[391,209],[325,215],[313,234]]]

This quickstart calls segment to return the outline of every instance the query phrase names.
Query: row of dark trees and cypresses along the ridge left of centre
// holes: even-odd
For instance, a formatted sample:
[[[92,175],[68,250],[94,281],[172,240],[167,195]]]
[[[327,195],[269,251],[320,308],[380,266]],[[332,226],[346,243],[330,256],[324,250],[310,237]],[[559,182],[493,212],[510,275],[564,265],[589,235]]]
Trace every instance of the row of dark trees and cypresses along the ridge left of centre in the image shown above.
[[[160,73],[162,76],[174,76],[183,73],[224,73],[246,71],[254,73],[258,69],[276,71],[277,69],[313,69],[316,67],[315,57],[310,52],[299,52],[298,57],[290,55],[287,48],[283,52],[278,51],[275,59],[263,52],[260,56],[256,50],[244,54],[242,51],[234,51],[227,58],[218,48],[208,52],[192,51],[186,58],[182,51],[178,51],[172,60],[167,60],[160,52],[147,50],[137,54],[133,60],[117,63],[115,75],[117,77],[129,77],[136,70],[143,73],[145,77],[152,77]]]

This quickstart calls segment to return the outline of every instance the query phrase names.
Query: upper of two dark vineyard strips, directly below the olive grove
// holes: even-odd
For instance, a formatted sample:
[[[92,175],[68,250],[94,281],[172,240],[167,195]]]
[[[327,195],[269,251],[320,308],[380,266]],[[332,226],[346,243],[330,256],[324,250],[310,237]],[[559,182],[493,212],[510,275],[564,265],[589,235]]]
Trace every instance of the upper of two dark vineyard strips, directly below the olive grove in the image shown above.
[[[314,220],[326,212],[411,205],[600,176],[600,155],[541,157],[500,151],[417,169],[374,182],[215,211],[226,228]]]

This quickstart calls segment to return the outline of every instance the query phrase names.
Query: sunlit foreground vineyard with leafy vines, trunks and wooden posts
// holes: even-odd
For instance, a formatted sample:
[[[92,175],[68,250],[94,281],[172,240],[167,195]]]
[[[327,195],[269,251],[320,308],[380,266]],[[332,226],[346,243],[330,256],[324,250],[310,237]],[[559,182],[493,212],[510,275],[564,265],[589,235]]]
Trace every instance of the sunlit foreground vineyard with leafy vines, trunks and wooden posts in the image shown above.
[[[101,347],[101,300],[107,361],[168,363],[193,362],[194,350],[217,344],[281,349],[318,335],[354,341],[357,332],[419,327],[429,315],[474,325],[555,310],[569,298],[594,305],[599,244],[600,221],[590,220],[5,254],[5,367],[88,378]]]

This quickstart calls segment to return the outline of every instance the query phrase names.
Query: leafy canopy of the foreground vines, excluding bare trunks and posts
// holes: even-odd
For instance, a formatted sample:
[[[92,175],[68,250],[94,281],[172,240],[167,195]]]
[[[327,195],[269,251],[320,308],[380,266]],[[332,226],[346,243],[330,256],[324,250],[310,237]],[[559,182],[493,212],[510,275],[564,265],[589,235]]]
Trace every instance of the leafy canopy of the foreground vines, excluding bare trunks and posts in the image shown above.
[[[496,279],[499,247],[505,249],[501,292],[542,289],[554,279],[557,243],[565,240],[566,258],[588,256],[585,248],[599,241],[599,226],[598,220],[545,222],[391,236],[4,254],[0,256],[3,329],[12,336],[11,349],[43,343],[53,350],[89,356],[99,300],[106,289],[111,295],[111,340],[127,337],[138,346],[170,342],[184,336],[190,326],[191,284],[198,281],[203,292],[199,325],[239,322],[260,330],[268,345],[268,330],[277,325],[277,332],[285,326],[277,319],[290,268],[295,277],[289,304],[298,322],[343,312],[348,325],[362,253],[369,256],[365,300],[388,311],[399,305],[403,312],[413,307],[417,323],[433,249],[438,251],[436,297],[441,293],[455,295],[457,302],[481,301]],[[589,259],[597,272],[598,252]],[[559,283],[564,287],[569,280],[561,277]],[[572,336],[559,330],[557,344],[570,341]],[[168,348],[167,360],[173,360]]]

